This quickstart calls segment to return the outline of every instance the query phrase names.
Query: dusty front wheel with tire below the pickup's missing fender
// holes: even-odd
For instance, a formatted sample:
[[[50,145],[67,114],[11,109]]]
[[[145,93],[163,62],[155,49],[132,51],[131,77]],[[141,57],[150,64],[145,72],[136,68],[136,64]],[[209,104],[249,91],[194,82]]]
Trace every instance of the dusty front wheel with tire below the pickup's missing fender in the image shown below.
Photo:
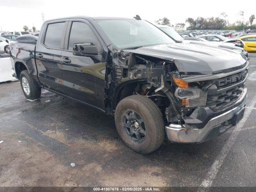
[[[137,130],[136,122],[139,124]],[[122,99],[116,107],[115,123],[119,136],[135,152],[149,154],[164,141],[162,113],[146,96],[132,95]]]

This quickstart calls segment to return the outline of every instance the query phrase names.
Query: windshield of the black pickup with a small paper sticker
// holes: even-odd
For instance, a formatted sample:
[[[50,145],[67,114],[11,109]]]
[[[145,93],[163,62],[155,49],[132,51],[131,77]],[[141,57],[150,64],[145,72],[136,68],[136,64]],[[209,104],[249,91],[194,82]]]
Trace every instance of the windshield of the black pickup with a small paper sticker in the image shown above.
[[[144,20],[98,20],[96,22],[112,44],[120,49],[174,43],[164,32]]]

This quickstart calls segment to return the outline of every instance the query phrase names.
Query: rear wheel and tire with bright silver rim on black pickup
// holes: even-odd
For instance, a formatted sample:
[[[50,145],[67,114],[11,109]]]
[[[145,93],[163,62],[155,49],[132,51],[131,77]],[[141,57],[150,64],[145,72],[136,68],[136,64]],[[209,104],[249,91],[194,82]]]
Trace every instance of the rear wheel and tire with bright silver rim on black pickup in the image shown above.
[[[36,87],[28,73],[28,70],[23,70],[20,73],[20,85],[27,99],[35,100],[41,96],[41,88]]]

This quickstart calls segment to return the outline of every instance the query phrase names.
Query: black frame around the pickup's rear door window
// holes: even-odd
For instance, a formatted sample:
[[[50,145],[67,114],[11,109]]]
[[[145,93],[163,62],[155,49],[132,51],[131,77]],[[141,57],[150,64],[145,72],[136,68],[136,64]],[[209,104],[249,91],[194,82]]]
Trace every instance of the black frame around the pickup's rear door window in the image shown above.
[[[49,47],[46,44],[44,44],[45,37],[46,37],[46,32],[47,32],[47,29],[48,29],[48,25],[55,24],[55,23],[64,23],[64,32],[62,32],[62,36],[61,36],[61,40],[60,40],[60,44],[62,45],[61,48],[53,48],[53,47]],[[65,37],[65,34],[66,34],[67,26],[68,26],[68,20],[54,20],[54,21],[46,22],[43,37],[41,39],[42,46],[44,46],[46,49],[63,50],[63,48],[64,48],[64,37]]]

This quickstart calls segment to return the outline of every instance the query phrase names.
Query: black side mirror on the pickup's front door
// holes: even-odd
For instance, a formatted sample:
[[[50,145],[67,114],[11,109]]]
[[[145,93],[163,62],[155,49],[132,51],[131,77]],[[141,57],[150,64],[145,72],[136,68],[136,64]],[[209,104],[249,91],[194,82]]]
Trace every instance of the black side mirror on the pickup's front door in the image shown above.
[[[77,43],[73,46],[73,55],[86,56],[86,55],[97,55],[97,46],[93,43]]]

